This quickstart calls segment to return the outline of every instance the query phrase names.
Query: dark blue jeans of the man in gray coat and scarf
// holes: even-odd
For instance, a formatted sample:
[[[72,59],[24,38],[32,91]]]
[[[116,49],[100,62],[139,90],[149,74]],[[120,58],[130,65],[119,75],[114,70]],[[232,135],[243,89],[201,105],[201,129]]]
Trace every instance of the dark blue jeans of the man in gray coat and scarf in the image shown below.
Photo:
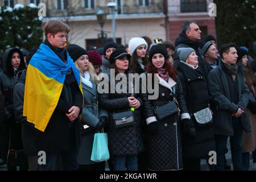
[[[232,118],[234,135],[230,137],[230,150],[234,170],[243,170],[242,165],[242,125],[238,118]],[[224,170],[224,156],[228,137],[225,135],[215,135],[217,150],[217,170]]]

